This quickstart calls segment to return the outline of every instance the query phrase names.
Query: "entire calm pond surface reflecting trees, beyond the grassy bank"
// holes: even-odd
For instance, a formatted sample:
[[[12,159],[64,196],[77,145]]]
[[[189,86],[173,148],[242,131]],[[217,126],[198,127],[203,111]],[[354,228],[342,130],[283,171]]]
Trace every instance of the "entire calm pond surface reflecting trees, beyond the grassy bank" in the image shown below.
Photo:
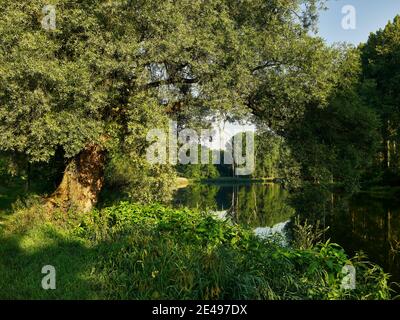
[[[319,220],[329,226],[326,238],[351,255],[364,251],[370,261],[392,274],[392,281],[400,281],[399,201],[366,195],[349,198],[315,188],[289,195],[276,184],[194,184],[178,190],[174,204],[215,211],[259,231],[280,226],[296,212],[309,222]]]

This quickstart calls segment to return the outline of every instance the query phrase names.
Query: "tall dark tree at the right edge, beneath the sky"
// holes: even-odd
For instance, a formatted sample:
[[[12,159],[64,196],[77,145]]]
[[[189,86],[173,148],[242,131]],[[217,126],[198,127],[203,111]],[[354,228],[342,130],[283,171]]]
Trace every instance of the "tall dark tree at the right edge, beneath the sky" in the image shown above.
[[[364,97],[382,122],[381,163],[400,174],[400,16],[361,46]]]

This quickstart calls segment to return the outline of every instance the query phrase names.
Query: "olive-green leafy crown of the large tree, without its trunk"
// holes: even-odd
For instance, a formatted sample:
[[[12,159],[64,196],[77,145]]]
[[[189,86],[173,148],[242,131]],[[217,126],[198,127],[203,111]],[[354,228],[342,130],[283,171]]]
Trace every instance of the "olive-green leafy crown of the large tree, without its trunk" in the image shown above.
[[[182,114],[192,116],[199,108],[246,108],[258,83],[284,80],[260,77],[271,57],[297,65],[304,51],[324,50],[306,35],[319,2],[304,11],[303,1],[57,0],[56,29],[49,32],[40,23],[47,2],[3,0],[0,147],[47,161],[58,146],[72,157],[89,141],[115,137],[115,129],[133,134],[143,106],[157,114],[181,101]],[[294,12],[301,11],[298,21]],[[314,69],[306,67],[302,77],[319,77]],[[166,78],[157,75],[163,70]]]

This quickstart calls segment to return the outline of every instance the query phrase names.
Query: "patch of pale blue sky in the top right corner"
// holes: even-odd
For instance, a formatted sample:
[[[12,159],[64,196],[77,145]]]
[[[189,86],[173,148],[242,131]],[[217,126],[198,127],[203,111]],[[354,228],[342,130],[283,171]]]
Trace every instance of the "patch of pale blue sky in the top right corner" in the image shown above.
[[[400,14],[400,0],[328,0],[327,4],[329,9],[320,14],[319,36],[328,43],[346,41],[358,45]],[[342,28],[342,19],[346,16],[342,8],[346,5],[355,9],[355,29]]]

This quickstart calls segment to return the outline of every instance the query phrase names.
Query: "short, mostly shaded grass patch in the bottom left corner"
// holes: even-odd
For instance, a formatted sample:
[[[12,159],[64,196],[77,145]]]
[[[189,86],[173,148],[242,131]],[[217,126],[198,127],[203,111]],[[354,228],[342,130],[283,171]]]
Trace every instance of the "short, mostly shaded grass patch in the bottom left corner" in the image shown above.
[[[45,228],[37,235],[0,236],[0,299],[101,299],[92,273],[96,253]],[[56,269],[56,289],[42,288],[42,268]]]

